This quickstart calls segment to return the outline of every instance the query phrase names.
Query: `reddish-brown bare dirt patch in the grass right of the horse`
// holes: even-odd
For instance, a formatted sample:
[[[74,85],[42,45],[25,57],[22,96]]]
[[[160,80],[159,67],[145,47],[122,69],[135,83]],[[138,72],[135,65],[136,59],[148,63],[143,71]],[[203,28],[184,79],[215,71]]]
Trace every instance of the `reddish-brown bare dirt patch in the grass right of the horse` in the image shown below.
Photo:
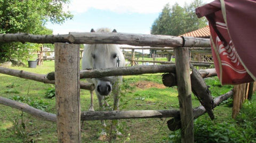
[[[156,87],[160,89],[166,88],[163,84],[155,83],[152,81],[138,81],[136,83],[131,83],[131,86],[136,86],[141,89],[146,89],[146,88],[151,88],[151,87]]]

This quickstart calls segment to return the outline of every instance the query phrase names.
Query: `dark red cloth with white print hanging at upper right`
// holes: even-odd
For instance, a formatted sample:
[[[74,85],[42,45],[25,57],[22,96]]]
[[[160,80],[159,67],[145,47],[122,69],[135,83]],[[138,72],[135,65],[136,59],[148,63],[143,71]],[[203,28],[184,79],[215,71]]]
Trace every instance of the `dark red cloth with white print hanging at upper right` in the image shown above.
[[[256,81],[256,1],[215,0],[196,9],[211,31],[215,69],[222,85]]]

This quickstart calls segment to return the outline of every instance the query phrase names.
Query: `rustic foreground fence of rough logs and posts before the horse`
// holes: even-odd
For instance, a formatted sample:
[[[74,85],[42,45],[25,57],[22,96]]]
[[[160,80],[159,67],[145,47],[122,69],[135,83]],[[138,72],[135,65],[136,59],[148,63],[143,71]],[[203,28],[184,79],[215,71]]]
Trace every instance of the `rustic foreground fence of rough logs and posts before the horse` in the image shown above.
[[[55,88],[57,115],[38,111],[33,107],[22,103],[0,97],[0,104],[17,108],[46,120],[57,122],[58,142],[81,142],[81,120],[102,119],[130,119],[130,118],[152,118],[152,117],[175,117],[179,118],[181,129],[181,142],[194,142],[194,125],[196,117],[204,114],[207,110],[203,106],[197,108],[191,104],[191,83],[189,73],[189,48],[187,47],[210,47],[210,41],[203,38],[174,37],[159,35],[139,35],[129,33],[98,33],[72,32],[68,35],[30,35],[27,33],[0,34],[0,42],[30,42],[30,43],[55,43]],[[68,44],[70,43],[70,44]],[[152,65],[135,66],[95,70],[79,70],[79,44],[129,44],[134,46],[157,46],[175,47],[175,65]],[[67,58],[68,57],[68,58]],[[64,68],[63,68],[64,67]],[[81,112],[79,101],[80,78],[98,78],[117,75],[137,75],[143,73],[163,72],[167,69],[169,73],[175,73],[178,85],[178,98],[180,110],[166,111],[96,111]],[[5,69],[3,69],[5,70]],[[0,70],[1,71],[1,70]],[[194,72],[194,71],[193,71]],[[20,71],[22,74],[23,71]],[[4,74],[12,74],[4,73]],[[205,73],[206,75],[209,73]],[[89,76],[90,75],[90,76]],[[199,78],[202,78],[200,74]],[[35,77],[37,79],[37,77]],[[40,78],[47,78],[46,75]],[[195,77],[192,77],[195,79]],[[47,79],[46,81],[51,81]],[[203,80],[201,80],[203,81]],[[199,83],[199,81],[196,81]],[[206,85],[205,85],[206,86]],[[206,87],[206,89],[208,89]],[[211,101],[211,108],[219,105],[233,95],[233,90],[221,95]],[[201,95],[202,96],[202,95]],[[207,111],[209,113],[209,111]],[[49,118],[45,117],[50,115]],[[56,118],[55,118],[56,117]],[[178,121],[178,120],[177,120]]]

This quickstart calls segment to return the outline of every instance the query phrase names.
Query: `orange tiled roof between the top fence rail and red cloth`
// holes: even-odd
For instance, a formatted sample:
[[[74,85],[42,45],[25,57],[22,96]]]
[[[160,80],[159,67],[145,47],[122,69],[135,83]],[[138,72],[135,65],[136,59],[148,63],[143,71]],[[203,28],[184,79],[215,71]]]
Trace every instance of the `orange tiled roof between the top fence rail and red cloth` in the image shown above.
[[[198,38],[210,38],[210,28],[209,26],[206,26],[204,28],[200,28],[198,30],[192,31],[192,32],[188,32],[185,33],[183,35],[180,36],[192,36],[192,37],[198,37]]]

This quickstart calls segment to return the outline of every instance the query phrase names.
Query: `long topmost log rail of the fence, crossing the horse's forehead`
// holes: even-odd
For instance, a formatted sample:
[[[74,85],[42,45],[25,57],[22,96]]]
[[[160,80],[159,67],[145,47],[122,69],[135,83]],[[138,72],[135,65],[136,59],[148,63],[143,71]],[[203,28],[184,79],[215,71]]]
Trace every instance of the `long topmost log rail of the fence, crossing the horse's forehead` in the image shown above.
[[[118,32],[70,32],[67,35],[31,35],[28,33],[0,34],[0,42],[22,43],[74,43],[74,44],[128,44],[157,47],[210,47],[210,40],[203,38],[142,35]]]

